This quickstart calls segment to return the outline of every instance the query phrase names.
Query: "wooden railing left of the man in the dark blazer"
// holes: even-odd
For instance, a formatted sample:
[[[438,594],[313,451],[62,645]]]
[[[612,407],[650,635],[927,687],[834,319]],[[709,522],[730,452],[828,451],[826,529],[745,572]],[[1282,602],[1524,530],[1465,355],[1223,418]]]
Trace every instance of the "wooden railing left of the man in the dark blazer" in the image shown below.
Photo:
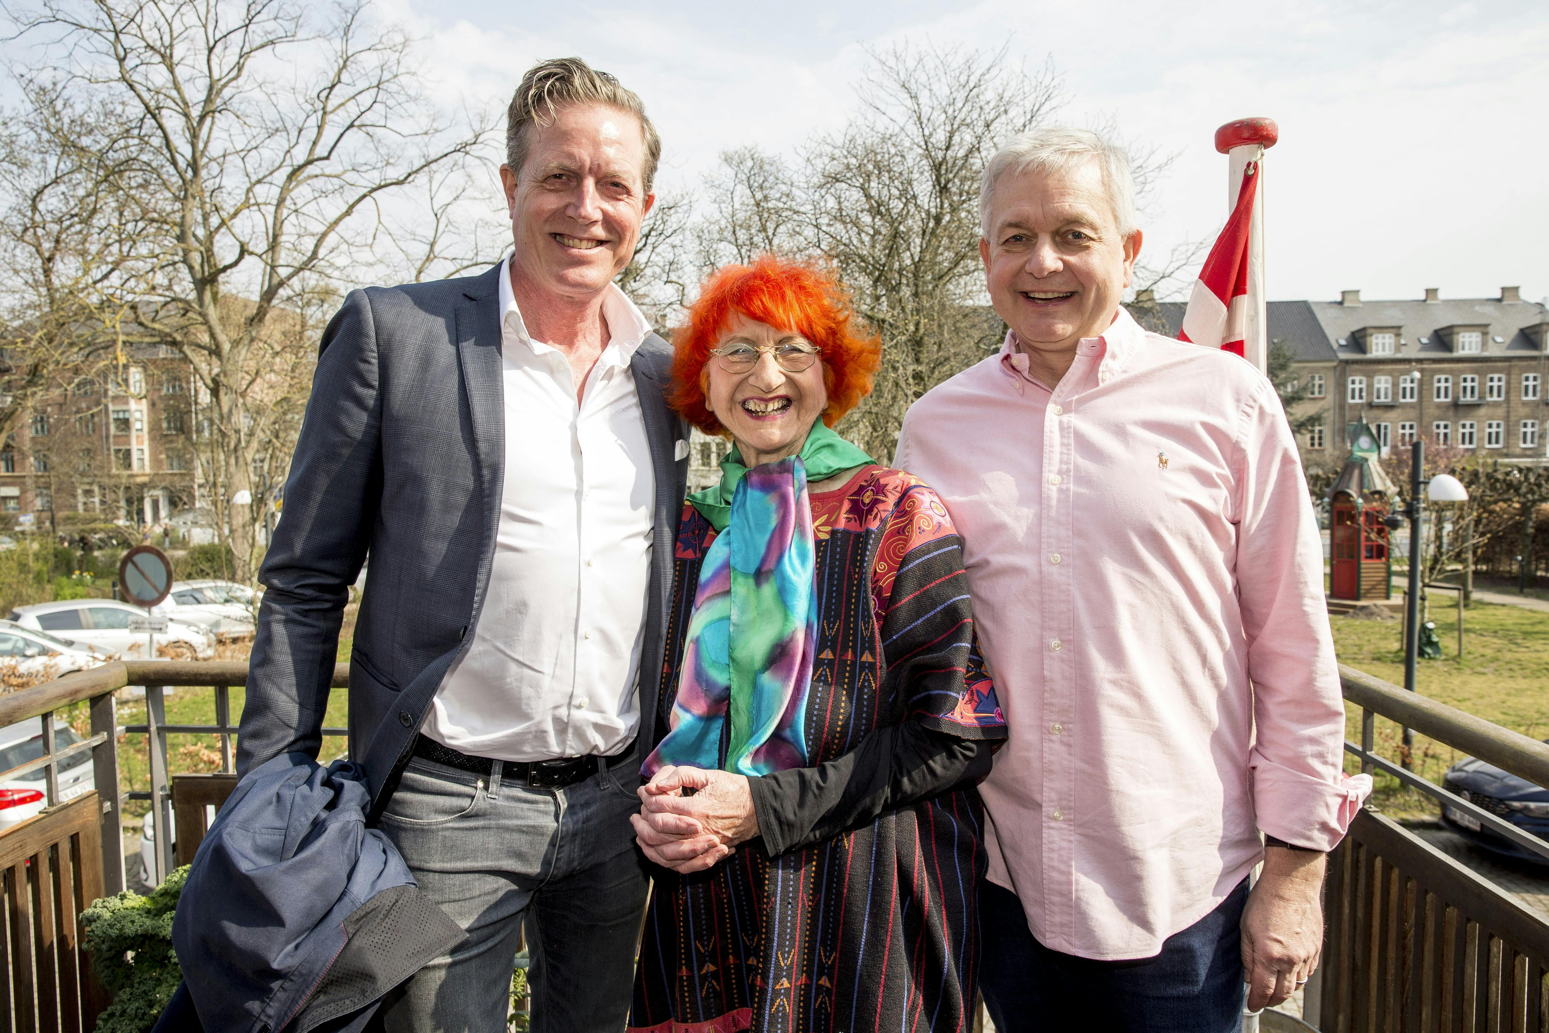
[[[0,832],[0,956],[9,973],[0,980],[0,1033],[87,1033],[96,1027],[96,1018],[108,1000],[81,949],[81,912],[93,900],[124,889],[124,801],[150,801],[156,832],[153,881],[160,881],[175,861],[172,822],[167,821],[173,805],[181,804],[178,810],[191,829],[178,844],[184,847],[180,855],[191,855],[191,847],[204,833],[204,804],[209,802],[208,790],[200,796],[197,788],[186,793],[186,801],[178,799],[167,771],[167,736],[220,736],[222,765],[229,773],[231,740],[237,731],[229,717],[229,692],[231,686],[246,680],[245,663],[129,660],[67,674],[0,697],[0,728],[40,717],[43,734],[43,756],[0,771],[0,782],[42,770],[45,796],[40,815]],[[333,685],[347,683],[349,666],[339,664]],[[118,723],[116,694],[132,685],[146,689],[144,725]],[[215,723],[169,725],[163,689],[173,685],[214,686]],[[57,711],[82,702],[90,709],[91,734],[56,750]],[[344,734],[344,729],[328,728],[325,733]],[[121,791],[121,734],[144,734],[149,739],[149,791]],[[96,788],[62,802],[59,765],[87,750],[91,751]]]

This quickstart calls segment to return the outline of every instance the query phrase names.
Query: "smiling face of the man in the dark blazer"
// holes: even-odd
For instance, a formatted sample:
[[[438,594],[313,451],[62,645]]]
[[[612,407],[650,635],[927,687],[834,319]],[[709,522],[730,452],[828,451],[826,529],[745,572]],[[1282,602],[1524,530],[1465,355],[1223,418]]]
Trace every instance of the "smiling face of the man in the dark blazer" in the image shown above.
[[[514,276],[565,297],[590,297],[629,265],[644,192],[646,144],[640,119],[601,104],[561,108],[533,125],[520,170],[500,166],[511,212]]]

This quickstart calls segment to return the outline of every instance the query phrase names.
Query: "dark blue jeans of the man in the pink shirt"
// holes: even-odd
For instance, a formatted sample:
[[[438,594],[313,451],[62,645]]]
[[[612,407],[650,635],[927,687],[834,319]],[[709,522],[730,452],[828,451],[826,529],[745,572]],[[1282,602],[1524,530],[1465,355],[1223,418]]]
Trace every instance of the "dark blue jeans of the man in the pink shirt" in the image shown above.
[[[979,990],[996,1033],[1236,1033],[1242,1028],[1242,906],[1247,880],[1221,906],[1169,935],[1156,957],[1094,962],[1033,939],[1022,901],[979,883]]]

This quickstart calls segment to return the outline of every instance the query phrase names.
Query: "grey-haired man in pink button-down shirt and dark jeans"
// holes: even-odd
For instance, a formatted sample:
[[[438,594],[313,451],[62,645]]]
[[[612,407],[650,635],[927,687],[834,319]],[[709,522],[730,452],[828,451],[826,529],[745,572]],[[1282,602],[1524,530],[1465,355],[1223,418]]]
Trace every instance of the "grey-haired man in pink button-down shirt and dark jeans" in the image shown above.
[[[897,466],[963,536],[1011,728],[981,787],[984,997],[1001,1033],[1236,1030],[1244,983],[1256,1010],[1317,966],[1324,852],[1369,791],[1297,444],[1258,370],[1120,305],[1123,150],[1019,136],[981,215],[1010,331],[915,403]]]

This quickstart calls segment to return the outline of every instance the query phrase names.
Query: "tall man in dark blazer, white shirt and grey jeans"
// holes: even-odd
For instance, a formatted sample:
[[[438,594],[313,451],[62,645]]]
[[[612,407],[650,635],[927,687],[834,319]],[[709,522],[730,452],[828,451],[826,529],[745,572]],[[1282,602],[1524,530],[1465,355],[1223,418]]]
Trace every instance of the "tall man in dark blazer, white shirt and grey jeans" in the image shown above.
[[[507,150],[500,265],[353,291],[324,333],[242,716],[240,771],[316,756],[370,554],[350,754],[466,932],[390,996],[387,1030],[505,1028],[524,921],[533,1030],[623,1028],[646,900],[629,815],[688,431],[671,350],[613,277],[660,142],[634,93],[562,59],[522,79]]]

